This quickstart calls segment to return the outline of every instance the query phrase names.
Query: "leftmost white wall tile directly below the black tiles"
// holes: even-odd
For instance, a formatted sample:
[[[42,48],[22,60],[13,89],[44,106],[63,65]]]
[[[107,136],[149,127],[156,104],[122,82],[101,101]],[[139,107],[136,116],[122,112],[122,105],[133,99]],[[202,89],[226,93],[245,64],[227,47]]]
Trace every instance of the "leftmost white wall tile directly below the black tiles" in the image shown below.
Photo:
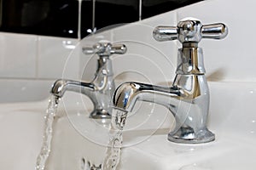
[[[37,38],[0,32],[0,77],[36,77]]]

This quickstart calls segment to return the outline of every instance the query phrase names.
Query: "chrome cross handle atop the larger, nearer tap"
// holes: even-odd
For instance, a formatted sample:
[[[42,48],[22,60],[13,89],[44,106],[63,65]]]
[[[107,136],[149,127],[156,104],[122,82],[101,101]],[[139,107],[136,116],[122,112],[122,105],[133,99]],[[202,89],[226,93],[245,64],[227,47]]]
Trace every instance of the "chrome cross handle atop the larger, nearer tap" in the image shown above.
[[[201,38],[222,39],[228,34],[228,28],[222,23],[202,25],[196,19],[184,19],[178,22],[177,26],[157,26],[154,28],[153,37],[156,41],[195,42]]]

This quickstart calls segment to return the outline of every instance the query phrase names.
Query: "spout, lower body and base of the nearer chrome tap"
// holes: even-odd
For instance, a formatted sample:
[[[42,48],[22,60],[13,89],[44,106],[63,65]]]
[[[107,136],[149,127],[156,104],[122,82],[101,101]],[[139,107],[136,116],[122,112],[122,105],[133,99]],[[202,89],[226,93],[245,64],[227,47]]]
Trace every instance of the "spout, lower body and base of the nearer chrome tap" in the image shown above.
[[[163,105],[172,113],[170,141],[199,144],[215,139],[207,129],[209,91],[204,75],[177,75],[172,87],[125,82],[113,94],[113,106],[120,110],[131,112],[137,100]]]

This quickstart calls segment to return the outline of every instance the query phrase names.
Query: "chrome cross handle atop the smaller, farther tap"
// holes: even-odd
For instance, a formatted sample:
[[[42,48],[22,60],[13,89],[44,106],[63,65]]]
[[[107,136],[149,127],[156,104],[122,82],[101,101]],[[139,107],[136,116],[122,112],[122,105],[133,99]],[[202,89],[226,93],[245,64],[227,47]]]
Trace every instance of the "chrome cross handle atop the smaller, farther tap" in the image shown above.
[[[98,54],[100,57],[109,57],[112,54],[125,54],[125,44],[97,42],[92,47],[82,48],[84,54]]]

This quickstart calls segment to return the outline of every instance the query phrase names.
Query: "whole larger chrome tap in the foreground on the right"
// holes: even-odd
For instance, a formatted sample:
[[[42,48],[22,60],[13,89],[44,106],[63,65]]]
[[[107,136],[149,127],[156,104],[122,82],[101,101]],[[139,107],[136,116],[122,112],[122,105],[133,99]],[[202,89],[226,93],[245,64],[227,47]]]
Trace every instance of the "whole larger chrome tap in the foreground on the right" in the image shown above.
[[[201,38],[222,39],[228,29],[224,24],[202,26],[199,20],[181,20],[177,26],[158,26],[153,31],[157,41],[178,40],[177,70],[172,87],[140,82],[125,82],[113,94],[113,106],[132,111],[137,100],[164,105],[175,117],[176,125],[168,134],[172,142],[207,143],[215,139],[207,129],[209,89],[205,77]]]

